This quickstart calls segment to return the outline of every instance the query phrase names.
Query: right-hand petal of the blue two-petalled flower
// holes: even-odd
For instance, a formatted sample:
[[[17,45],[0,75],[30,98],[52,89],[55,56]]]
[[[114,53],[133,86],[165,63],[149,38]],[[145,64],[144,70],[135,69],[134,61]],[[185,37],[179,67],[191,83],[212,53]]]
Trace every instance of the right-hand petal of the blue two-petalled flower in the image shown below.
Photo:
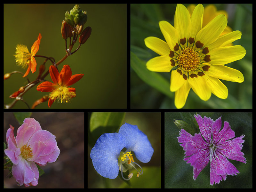
[[[127,151],[133,151],[137,159],[142,163],[148,163],[154,153],[147,135],[138,129],[137,125],[128,123],[123,124],[119,132],[124,135],[126,140],[125,148]]]

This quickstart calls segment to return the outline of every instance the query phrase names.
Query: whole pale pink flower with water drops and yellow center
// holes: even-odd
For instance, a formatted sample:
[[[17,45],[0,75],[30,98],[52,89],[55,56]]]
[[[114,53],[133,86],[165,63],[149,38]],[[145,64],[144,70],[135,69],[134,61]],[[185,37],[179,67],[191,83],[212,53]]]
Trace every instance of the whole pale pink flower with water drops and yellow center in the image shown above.
[[[39,172],[36,164],[44,166],[55,162],[60,154],[55,136],[42,130],[34,118],[26,118],[14,138],[12,125],[7,130],[8,148],[4,153],[11,159],[12,175],[20,185],[36,186]],[[36,164],[35,164],[36,163]]]

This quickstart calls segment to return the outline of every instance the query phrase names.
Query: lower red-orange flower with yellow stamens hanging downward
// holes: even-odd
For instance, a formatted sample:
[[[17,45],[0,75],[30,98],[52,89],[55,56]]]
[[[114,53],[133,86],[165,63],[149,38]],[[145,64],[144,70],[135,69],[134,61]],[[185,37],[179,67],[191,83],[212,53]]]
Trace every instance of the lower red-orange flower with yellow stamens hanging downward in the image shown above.
[[[84,74],[72,75],[71,68],[68,65],[64,65],[60,73],[55,66],[51,65],[49,72],[53,83],[45,81],[36,87],[37,91],[50,92],[48,107],[51,107],[55,99],[60,103],[62,101],[67,103],[72,97],[76,97],[76,89],[68,86],[79,81]]]

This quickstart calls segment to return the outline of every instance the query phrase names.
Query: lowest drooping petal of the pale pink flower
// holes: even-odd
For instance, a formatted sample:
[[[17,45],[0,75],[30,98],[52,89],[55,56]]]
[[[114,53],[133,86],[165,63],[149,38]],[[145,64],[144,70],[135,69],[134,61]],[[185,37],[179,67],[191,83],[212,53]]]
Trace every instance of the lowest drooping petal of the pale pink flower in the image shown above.
[[[20,185],[23,183],[29,184],[33,181],[34,183],[38,182],[39,178],[36,164],[33,161],[27,161],[24,158],[21,159],[19,164],[12,165],[12,175]]]

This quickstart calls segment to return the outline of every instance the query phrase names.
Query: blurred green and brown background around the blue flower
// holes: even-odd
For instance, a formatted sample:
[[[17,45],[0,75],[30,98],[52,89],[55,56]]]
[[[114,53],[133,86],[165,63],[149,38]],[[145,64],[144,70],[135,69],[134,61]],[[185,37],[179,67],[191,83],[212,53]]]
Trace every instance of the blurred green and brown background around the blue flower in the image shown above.
[[[97,114],[97,115],[96,115]],[[106,115],[106,120],[102,124],[102,114]],[[101,118],[100,118],[101,116]],[[122,117],[121,117],[122,116]],[[92,120],[93,119],[93,120]],[[99,134],[92,131],[92,123],[99,126]],[[136,170],[130,169],[129,173],[133,173],[133,177],[129,181],[125,181],[121,177],[121,172],[116,179],[108,179],[102,177],[93,167],[90,153],[96,140],[103,133],[118,132],[121,125],[129,123],[137,125],[140,131],[147,135],[154,153],[148,163],[141,163],[136,156],[134,161],[143,169],[143,175],[136,177]],[[104,131],[103,127],[105,128]],[[114,129],[114,127],[116,127]],[[161,188],[161,113],[88,113],[88,188]],[[104,159],[103,159],[104,161]],[[136,166],[138,169],[138,167]],[[128,173],[125,172],[124,174]],[[128,174],[127,174],[128,175]],[[126,176],[126,178],[128,178]]]

